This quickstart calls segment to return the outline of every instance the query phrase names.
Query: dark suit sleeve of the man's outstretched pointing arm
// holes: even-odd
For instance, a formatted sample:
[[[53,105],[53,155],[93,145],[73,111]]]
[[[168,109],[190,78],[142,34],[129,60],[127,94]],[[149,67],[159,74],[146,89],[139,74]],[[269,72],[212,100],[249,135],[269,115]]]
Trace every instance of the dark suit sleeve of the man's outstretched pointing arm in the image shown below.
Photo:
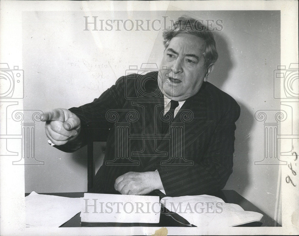
[[[107,141],[109,129],[113,123],[107,121],[106,112],[110,109],[120,109],[125,101],[125,77],[120,77],[115,85],[107,89],[93,102],[69,110],[81,121],[78,137],[64,145],[54,145],[64,152],[74,152],[85,146],[88,141]]]

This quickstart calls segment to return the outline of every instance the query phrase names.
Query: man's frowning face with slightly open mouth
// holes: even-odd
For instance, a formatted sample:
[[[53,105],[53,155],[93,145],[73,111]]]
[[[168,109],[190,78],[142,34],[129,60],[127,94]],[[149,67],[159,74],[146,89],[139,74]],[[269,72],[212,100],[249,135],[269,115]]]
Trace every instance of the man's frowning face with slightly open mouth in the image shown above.
[[[199,91],[211,71],[205,67],[204,52],[204,40],[195,35],[180,33],[170,40],[158,76],[159,88],[166,97],[184,101]]]

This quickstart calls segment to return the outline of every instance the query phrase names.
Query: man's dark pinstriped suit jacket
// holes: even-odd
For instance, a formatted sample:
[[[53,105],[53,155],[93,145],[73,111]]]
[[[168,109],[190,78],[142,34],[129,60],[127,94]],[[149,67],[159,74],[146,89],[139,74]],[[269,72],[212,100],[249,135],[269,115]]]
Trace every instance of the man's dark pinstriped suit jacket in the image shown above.
[[[115,179],[129,171],[158,170],[168,196],[211,194],[225,186],[232,173],[239,105],[225,92],[204,82],[199,92],[185,101],[172,122],[181,127],[173,132],[183,132],[183,138],[175,141],[170,135],[161,138],[164,97],[158,89],[157,75],[155,71],[120,77],[92,103],[70,109],[81,120],[80,137],[59,149],[77,150],[88,139],[107,141],[103,165],[95,176],[94,192],[115,191]],[[113,122],[117,118],[113,116],[115,112],[109,110],[118,114],[116,122]],[[193,118],[187,122],[190,111]],[[129,139],[120,140],[124,135],[121,132],[129,135]],[[129,150],[122,149],[125,145]]]

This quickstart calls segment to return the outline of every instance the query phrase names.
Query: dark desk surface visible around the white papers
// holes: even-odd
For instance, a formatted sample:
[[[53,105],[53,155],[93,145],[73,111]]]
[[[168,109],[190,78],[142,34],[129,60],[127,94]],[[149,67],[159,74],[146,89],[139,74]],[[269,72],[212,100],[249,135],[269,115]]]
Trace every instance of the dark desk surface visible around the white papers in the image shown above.
[[[25,196],[27,196],[29,193],[26,193]],[[83,197],[83,192],[77,192],[77,193],[41,193],[41,194],[48,194],[48,195],[56,195],[61,197]],[[254,227],[254,226],[280,226],[275,220],[273,220],[271,217],[269,217],[266,213],[261,211],[259,208],[257,208],[255,205],[253,205],[251,202],[246,200],[244,197],[242,197],[240,194],[238,194],[234,190],[222,190],[219,191],[217,194],[215,194],[216,197],[222,198],[227,203],[235,203],[240,205],[245,211],[256,211],[261,214],[263,214],[263,218],[259,222],[251,222],[248,224],[244,224],[242,226],[235,226],[235,227]],[[84,223],[83,226],[88,227],[132,227],[132,226],[172,226],[172,227],[190,227],[183,225],[175,220],[173,220],[172,217],[166,216],[164,214],[160,215],[160,223],[158,224],[142,224],[142,223]],[[81,219],[80,219],[80,213],[75,215],[73,218],[68,220],[66,223],[64,223],[60,227],[82,227],[81,226]]]

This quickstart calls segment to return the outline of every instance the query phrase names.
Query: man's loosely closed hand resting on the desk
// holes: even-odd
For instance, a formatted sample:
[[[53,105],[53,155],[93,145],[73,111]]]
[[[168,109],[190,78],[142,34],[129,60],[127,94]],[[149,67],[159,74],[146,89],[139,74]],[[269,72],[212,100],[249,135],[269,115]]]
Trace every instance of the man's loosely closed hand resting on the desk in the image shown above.
[[[155,189],[164,189],[158,171],[125,173],[115,180],[114,188],[129,195],[144,195]]]

